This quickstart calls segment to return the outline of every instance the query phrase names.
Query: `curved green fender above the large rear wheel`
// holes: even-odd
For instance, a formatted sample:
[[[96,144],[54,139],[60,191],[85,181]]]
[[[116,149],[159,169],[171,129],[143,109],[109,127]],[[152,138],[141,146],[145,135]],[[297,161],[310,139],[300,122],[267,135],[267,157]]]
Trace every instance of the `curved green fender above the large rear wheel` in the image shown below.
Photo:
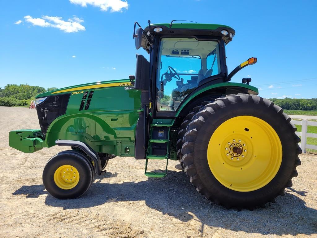
[[[191,100],[197,96],[199,96],[200,94],[210,90],[210,89],[216,89],[216,88],[225,88],[225,89],[235,89],[235,90],[239,90],[242,89],[241,91],[243,93],[248,93],[248,94],[254,94],[254,95],[258,95],[259,91],[256,87],[253,87],[251,85],[248,84],[243,84],[243,83],[230,83],[230,82],[225,82],[225,83],[215,83],[215,84],[211,84],[208,85],[202,89],[199,89],[197,91],[194,91],[193,94],[191,94],[190,96],[188,96],[184,102],[182,102],[182,104],[180,105],[180,107],[178,108],[178,111],[175,115],[175,117],[179,116],[179,114],[181,113],[181,111],[186,107],[186,105],[191,102]]]

